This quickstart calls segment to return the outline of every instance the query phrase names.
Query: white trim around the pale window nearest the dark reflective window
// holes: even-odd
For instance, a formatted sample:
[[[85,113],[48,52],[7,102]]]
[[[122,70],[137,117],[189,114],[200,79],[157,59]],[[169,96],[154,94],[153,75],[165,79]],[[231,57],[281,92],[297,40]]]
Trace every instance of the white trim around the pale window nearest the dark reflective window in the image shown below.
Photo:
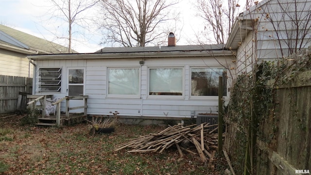
[[[148,67],[148,86],[147,86],[147,99],[185,99],[185,66],[170,66],[170,67]],[[149,95],[150,89],[150,69],[182,69],[182,95]]]

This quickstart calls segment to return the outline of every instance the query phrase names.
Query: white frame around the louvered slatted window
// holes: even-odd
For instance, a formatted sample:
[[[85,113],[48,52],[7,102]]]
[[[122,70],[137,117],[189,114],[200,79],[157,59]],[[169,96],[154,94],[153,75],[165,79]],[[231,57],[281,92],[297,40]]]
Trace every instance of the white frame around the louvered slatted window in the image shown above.
[[[41,82],[41,77],[40,77],[40,73],[41,73],[41,69],[59,69],[60,71],[60,75],[58,76],[58,78],[60,78],[59,80],[59,88],[58,90],[41,90],[41,86],[42,84],[40,83]],[[39,92],[39,93],[61,93],[62,92],[62,82],[64,81],[64,77],[63,77],[63,67],[39,67],[37,72],[36,72],[36,77],[35,77],[35,85],[37,86],[36,88],[36,92]],[[44,85],[44,84],[43,84]],[[48,85],[48,84],[45,84],[45,85]],[[56,84],[55,84],[56,85]]]

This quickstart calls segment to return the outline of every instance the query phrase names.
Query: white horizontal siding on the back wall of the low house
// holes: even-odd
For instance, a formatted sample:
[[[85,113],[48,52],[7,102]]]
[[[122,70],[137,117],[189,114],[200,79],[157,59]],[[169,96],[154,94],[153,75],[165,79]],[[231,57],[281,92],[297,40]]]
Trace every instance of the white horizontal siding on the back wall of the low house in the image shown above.
[[[218,59],[226,64],[226,58]],[[85,67],[85,95],[88,95],[87,113],[90,115],[108,115],[110,111],[118,111],[122,116],[137,117],[191,117],[202,112],[216,112],[218,110],[218,96],[194,98],[190,96],[190,68],[191,67],[221,67],[214,58],[147,58],[140,66],[141,58],[131,59],[80,59],[80,60],[38,60],[37,70],[40,67],[62,67],[62,88],[60,93],[53,93],[54,97],[67,95],[66,82],[69,67]],[[208,63],[208,65],[206,65]],[[165,96],[149,96],[149,69],[150,68],[182,68],[183,95],[168,98]],[[230,66],[229,66],[230,67]],[[112,97],[107,95],[108,68],[138,68],[140,74],[140,94],[135,98],[126,95]],[[228,84],[229,85],[229,84]],[[49,94],[35,92],[36,94]],[[226,101],[228,98],[225,98]],[[70,105],[72,105],[70,101]],[[61,104],[65,110],[65,102]],[[71,112],[71,111],[70,111]],[[75,110],[82,112],[82,110]]]

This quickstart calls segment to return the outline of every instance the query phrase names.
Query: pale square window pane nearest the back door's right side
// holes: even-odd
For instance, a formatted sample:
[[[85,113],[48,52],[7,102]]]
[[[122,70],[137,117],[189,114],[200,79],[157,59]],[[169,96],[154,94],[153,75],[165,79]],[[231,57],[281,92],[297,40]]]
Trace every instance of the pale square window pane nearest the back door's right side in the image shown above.
[[[109,68],[108,95],[139,95],[138,68]]]

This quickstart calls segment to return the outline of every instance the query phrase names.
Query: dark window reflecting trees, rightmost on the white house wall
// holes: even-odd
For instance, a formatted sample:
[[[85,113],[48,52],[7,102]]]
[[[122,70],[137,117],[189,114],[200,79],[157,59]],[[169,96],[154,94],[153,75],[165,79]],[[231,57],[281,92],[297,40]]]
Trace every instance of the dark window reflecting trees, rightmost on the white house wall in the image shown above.
[[[218,77],[223,76],[224,93],[227,95],[226,70],[223,68],[192,68],[191,95],[218,96]]]

